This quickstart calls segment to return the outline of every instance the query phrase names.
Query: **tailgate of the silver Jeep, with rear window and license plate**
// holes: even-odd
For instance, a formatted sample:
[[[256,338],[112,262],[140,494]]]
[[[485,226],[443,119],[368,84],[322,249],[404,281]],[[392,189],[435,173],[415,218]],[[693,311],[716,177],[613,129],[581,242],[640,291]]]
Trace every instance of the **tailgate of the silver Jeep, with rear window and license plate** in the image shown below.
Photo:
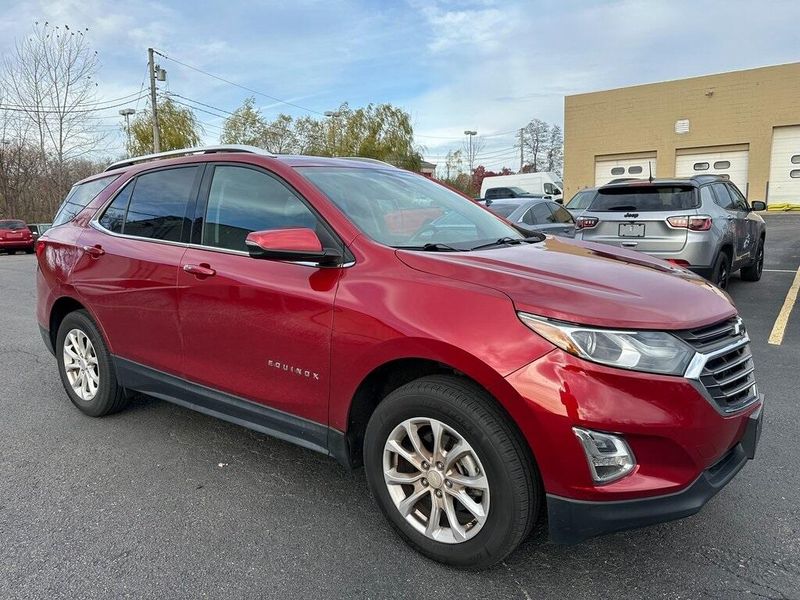
[[[582,218],[597,225],[582,229],[584,240],[652,254],[674,254],[686,245],[688,230],[667,219],[697,214],[697,190],[691,186],[635,184],[601,188]]]

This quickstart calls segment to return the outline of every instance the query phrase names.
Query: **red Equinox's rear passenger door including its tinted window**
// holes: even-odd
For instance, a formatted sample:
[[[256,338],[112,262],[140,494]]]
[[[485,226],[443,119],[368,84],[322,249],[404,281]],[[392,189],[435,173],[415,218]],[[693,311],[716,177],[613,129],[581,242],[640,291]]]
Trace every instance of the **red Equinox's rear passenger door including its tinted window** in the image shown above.
[[[179,374],[177,279],[202,165],[158,169],[128,182],[80,238],[72,282],[115,355]]]

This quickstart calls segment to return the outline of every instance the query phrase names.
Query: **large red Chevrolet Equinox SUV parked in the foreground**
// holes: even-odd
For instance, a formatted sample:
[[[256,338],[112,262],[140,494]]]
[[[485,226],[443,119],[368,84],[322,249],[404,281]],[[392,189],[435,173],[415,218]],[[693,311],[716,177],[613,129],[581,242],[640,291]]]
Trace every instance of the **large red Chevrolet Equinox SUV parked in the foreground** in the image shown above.
[[[122,161],[75,185],[37,256],[80,410],[143,392],[363,464],[400,535],[451,565],[502,560],[545,514],[565,543],[693,514],[758,441],[723,291],[523,237],[377,161]]]

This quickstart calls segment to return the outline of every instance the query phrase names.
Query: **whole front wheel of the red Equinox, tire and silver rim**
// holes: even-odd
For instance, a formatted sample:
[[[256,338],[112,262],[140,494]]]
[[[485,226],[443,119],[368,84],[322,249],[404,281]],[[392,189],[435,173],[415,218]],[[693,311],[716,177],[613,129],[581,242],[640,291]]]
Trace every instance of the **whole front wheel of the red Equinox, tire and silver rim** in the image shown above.
[[[484,390],[454,376],[408,383],[381,402],[364,440],[372,494],[422,554],[489,567],[530,532],[542,491],[524,440]]]

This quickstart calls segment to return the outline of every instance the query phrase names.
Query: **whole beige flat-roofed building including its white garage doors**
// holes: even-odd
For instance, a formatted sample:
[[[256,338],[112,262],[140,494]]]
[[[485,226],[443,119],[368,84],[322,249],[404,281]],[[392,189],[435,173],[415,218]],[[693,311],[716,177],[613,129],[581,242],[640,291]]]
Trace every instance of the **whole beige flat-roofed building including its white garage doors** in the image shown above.
[[[651,171],[723,175],[800,209],[800,63],[566,97],[565,198]]]

